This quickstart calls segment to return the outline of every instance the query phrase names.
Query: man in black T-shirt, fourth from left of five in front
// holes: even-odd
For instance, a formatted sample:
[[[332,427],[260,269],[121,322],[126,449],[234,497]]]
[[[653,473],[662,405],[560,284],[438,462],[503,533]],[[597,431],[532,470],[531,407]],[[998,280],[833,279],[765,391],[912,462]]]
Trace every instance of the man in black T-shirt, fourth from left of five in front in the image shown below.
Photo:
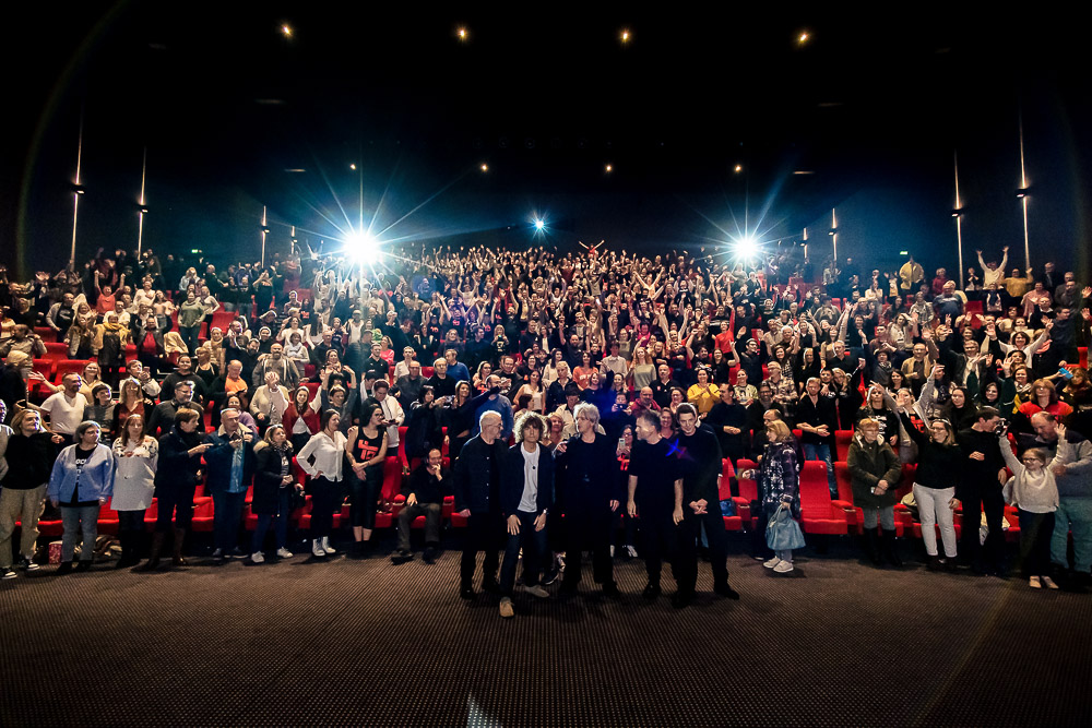
[[[649,583],[645,599],[660,596],[660,572],[664,557],[673,563],[675,583],[679,585],[673,598],[685,606],[680,570],[675,564],[678,550],[678,524],[682,521],[682,477],[677,450],[660,437],[660,418],[645,410],[637,418],[637,439],[629,461],[629,500],[626,511],[632,518],[641,511],[641,542]]]

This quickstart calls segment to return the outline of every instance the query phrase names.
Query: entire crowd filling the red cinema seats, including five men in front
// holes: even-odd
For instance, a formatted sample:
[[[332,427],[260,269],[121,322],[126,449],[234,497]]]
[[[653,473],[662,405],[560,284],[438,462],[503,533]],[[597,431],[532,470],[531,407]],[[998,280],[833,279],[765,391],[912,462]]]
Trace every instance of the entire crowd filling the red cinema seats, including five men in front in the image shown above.
[[[431,563],[447,525],[462,596],[484,551],[505,617],[518,561],[526,593],[563,597],[583,552],[608,596],[616,551],[644,559],[648,599],[666,560],[685,607],[702,554],[738,598],[724,516],[748,515],[751,556],[793,571],[763,535],[814,508],[816,461],[824,506],[876,564],[902,565],[909,512],[929,569],[1004,574],[1014,556],[1030,586],[1081,589],[1092,288],[1001,253],[980,252],[962,288],[913,258],[817,273],[603,244],[407,247],[366,265],[307,249],[223,270],[100,250],[31,281],[2,272],[0,575],[39,568],[39,521],[62,524],[61,572],[91,568],[106,512],[117,565],[183,564],[211,497],[217,561],[292,558],[296,529],[322,560],[347,521],[349,556],[396,524],[393,561],[411,561],[423,525]]]

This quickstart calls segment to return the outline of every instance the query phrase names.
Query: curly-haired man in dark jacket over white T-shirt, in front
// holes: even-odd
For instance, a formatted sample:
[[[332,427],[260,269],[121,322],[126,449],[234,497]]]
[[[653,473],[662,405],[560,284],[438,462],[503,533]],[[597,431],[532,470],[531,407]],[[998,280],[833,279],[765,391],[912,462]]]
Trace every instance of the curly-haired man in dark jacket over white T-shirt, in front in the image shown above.
[[[554,456],[538,444],[546,430],[542,415],[524,410],[515,425],[515,444],[505,453],[500,476],[500,508],[506,516],[508,542],[500,568],[500,616],[512,617],[515,566],[523,549],[523,584],[539,599],[549,593],[538,581],[549,568],[546,514],[554,502]]]

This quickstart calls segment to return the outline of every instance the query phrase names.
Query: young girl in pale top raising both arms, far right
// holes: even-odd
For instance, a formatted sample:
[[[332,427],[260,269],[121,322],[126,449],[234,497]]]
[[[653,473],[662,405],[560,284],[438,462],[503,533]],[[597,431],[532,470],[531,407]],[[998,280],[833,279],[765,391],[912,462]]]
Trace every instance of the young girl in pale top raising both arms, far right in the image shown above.
[[[1020,573],[1028,577],[1028,586],[1033,589],[1044,586],[1056,589],[1058,585],[1047,575],[1054,512],[1058,510],[1058,484],[1053,468],[1075,460],[1072,446],[1066,441],[1066,426],[1058,423],[1058,454],[1049,466],[1045,450],[1031,447],[1018,461],[1006,437],[998,434],[997,439],[1005,464],[1012,470],[1001,492],[1020,514]]]

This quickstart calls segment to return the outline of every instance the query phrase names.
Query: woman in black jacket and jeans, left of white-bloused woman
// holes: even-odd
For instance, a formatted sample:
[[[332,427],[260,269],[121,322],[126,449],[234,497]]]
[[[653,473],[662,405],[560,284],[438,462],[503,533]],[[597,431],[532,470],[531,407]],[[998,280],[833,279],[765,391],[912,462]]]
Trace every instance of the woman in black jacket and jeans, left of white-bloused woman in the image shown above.
[[[281,425],[265,430],[265,439],[254,445],[254,493],[250,511],[258,516],[254,538],[250,547],[250,560],[265,561],[262,544],[270,524],[276,535],[276,554],[290,559],[285,544],[288,539],[288,514],[292,513],[292,496],[302,492],[304,486],[296,482],[292,472],[292,443]]]

